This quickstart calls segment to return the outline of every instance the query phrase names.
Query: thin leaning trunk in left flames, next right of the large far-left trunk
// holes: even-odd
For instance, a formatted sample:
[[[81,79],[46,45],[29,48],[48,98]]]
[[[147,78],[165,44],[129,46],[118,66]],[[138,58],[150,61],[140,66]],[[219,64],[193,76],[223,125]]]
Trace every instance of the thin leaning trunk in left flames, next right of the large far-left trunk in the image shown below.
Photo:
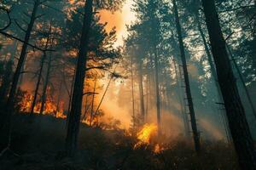
[[[51,33],[51,26],[49,26],[48,37],[47,37],[47,40],[45,42],[44,49],[48,48],[50,33]],[[39,69],[39,74],[38,74],[38,82],[37,82],[36,89],[35,89],[35,94],[34,94],[34,97],[33,97],[33,100],[32,100],[32,107],[31,107],[30,115],[32,115],[34,113],[34,108],[36,106],[36,102],[37,102],[37,98],[38,98],[38,90],[39,90],[39,86],[40,86],[40,82],[41,82],[41,78],[42,78],[42,72],[43,72],[43,69],[44,69],[44,60],[45,59],[46,59],[46,52],[44,51],[44,54],[41,58],[40,69]]]

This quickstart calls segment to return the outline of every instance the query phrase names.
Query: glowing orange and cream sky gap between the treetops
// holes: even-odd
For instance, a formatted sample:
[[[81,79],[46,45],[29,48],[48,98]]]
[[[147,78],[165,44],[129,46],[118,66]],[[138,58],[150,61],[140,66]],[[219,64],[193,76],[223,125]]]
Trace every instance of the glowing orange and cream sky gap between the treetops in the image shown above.
[[[135,14],[131,11],[132,0],[126,0],[123,8],[114,13],[102,10],[100,12],[101,22],[108,22],[107,31],[110,31],[113,26],[116,27],[117,31],[117,42],[116,45],[123,45],[123,38],[127,36],[126,25],[131,24],[136,19]]]

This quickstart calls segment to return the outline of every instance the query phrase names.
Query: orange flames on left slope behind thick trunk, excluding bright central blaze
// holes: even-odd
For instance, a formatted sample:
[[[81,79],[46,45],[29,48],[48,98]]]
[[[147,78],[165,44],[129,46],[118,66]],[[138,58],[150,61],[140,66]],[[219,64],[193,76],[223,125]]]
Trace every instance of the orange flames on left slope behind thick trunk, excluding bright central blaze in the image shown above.
[[[32,111],[32,99],[33,95],[26,91],[20,90],[19,101],[17,101],[17,112],[21,114],[30,114]],[[99,127],[104,130],[114,130],[121,127],[121,122],[113,118],[111,115],[106,115],[101,109],[96,111],[91,110],[91,106],[85,107],[81,115],[81,122],[90,127]],[[68,111],[65,111],[64,102],[56,102],[52,96],[46,98],[44,108],[42,108],[42,101],[38,100],[33,109],[34,115],[40,116],[53,116],[55,118],[67,119]]]

